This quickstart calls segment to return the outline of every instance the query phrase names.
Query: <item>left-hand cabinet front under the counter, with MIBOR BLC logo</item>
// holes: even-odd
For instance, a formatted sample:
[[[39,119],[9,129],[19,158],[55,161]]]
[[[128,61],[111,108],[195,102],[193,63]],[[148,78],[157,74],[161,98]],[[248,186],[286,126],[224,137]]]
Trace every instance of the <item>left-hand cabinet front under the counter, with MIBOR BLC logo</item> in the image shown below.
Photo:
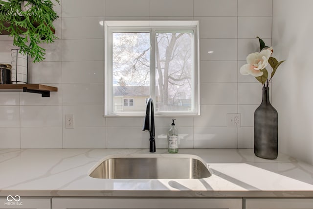
[[[9,195],[0,197],[0,209],[51,209],[51,198]]]

